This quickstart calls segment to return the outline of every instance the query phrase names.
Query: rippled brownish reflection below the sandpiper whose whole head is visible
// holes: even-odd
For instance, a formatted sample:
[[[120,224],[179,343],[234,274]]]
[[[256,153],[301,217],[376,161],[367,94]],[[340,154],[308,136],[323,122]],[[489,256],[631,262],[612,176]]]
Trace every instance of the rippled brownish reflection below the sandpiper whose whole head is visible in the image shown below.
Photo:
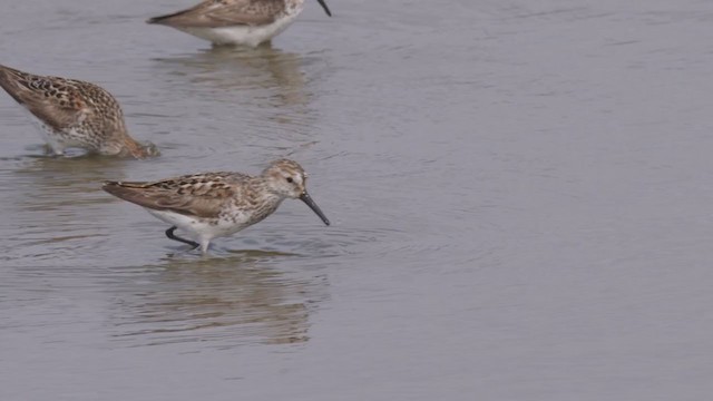
[[[279,270],[275,262],[285,257],[291,255],[261,251],[167,257],[121,273],[107,283],[113,338],[127,346],[306,342],[309,315],[328,297],[328,278]]]

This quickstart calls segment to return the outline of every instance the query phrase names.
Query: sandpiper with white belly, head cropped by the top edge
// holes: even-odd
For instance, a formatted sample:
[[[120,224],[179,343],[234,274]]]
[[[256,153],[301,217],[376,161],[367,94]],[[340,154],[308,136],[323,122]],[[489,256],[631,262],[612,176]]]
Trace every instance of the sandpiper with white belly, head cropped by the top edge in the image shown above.
[[[324,0],[318,2],[332,17]],[[215,45],[256,47],[285,30],[303,8],[304,0],[205,0],[146,22],[173,27]]]

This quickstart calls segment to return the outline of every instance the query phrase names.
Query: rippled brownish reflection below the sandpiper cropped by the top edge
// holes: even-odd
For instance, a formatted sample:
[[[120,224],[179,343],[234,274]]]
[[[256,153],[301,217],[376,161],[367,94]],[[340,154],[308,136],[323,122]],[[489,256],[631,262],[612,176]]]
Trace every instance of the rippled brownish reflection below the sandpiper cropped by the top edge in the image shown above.
[[[229,113],[240,118],[243,130],[270,138],[280,131],[307,134],[313,129],[319,111],[311,106],[314,90],[309,60],[270,47],[216,47],[155,59],[155,63],[172,91],[212,104],[218,100],[227,109],[213,109],[212,115]]]

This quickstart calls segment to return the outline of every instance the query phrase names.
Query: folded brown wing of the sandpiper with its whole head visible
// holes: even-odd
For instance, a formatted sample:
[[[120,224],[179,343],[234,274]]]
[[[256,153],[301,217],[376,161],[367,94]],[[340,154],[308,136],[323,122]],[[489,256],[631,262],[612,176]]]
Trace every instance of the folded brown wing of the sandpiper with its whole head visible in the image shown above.
[[[217,217],[225,202],[235,194],[233,182],[248,176],[211,173],[152,183],[107,182],[104,190],[124,200],[156,211],[187,216]]]

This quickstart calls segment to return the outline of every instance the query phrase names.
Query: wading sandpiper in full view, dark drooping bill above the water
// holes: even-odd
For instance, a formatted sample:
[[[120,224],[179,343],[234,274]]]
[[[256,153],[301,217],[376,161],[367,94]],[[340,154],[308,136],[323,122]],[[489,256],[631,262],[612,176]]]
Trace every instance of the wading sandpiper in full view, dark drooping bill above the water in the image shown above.
[[[301,199],[330,225],[324,213],[307,194],[307,175],[296,162],[280,159],[258,176],[242,173],[205,173],[157,182],[106,182],[109,194],[143,206],[172,225],[170,239],[201,246],[206,254],[211,241],[228,236],[261,222],[286,198]],[[176,236],[180,228],[195,239]]]

